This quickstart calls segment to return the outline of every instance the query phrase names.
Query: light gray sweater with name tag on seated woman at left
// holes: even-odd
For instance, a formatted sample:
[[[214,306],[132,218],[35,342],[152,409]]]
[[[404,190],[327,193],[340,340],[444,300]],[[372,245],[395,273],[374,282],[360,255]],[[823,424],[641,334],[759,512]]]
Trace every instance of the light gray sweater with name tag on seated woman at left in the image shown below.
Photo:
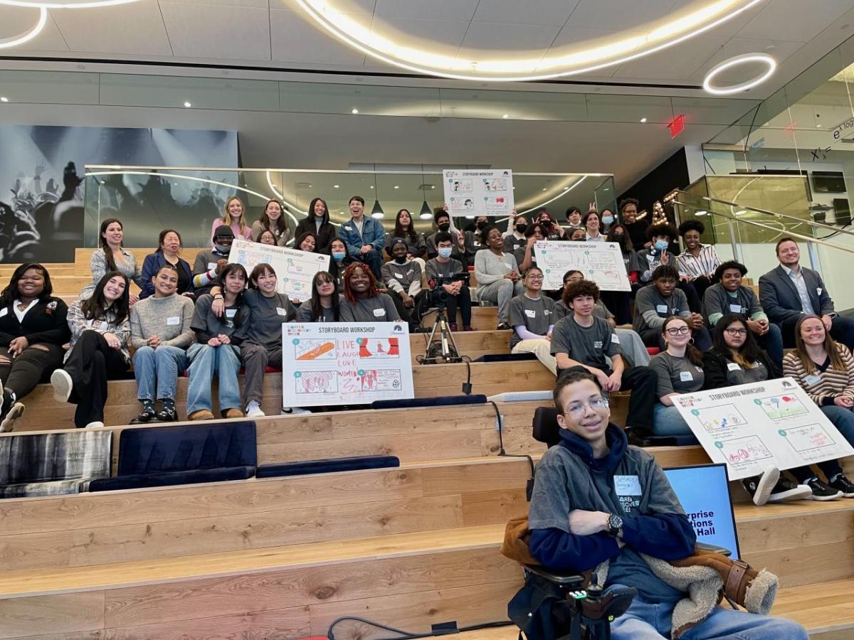
[[[190,328],[193,311],[193,301],[183,295],[166,298],[152,295],[139,300],[131,308],[131,346],[134,349],[145,346],[145,341],[156,335],[161,346],[187,348],[195,337]]]

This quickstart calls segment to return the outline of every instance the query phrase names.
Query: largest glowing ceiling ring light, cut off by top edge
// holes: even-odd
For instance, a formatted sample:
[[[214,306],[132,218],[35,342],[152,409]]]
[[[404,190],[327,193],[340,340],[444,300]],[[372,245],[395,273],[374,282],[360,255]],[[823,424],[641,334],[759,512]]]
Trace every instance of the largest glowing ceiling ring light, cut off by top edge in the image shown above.
[[[3,0],[5,1],[5,0]],[[9,0],[26,2],[27,0]],[[354,49],[377,60],[416,73],[459,80],[492,82],[522,82],[545,80],[564,76],[591,73],[605,67],[614,67],[645,55],[667,49],[689,38],[731,20],[762,0],[712,0],[694,3],[678,17],[650,26],[643,35],[629,35],[611,39],[608,44],[588,49],[563,48],[563,53],[529,57],[528,59],[471,60],[442,55],[432,50],[416,49],[409,44],[394,42],[373,31],[373,26],[363,25],[348,15],[330,7],[330,0],[295,0],[305,14],[325,31]],[[635,27],[633,32],[639,31]],[[572,45],[570,45],[571,47]]]

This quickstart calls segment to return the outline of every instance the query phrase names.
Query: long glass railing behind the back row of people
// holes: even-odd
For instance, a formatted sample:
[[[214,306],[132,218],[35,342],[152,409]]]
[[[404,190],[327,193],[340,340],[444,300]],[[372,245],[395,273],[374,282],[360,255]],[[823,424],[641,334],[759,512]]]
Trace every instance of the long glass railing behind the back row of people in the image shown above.
[[[84,247],[97,246],[100,224],[106,218],[122,220],[127,247],[153,247],[163,229],[178,230],[186,247],[205,247],[213,219],[223,215],[225,200],[231,195],[238,195],[248,207],[247,224],[260,217],[267,200],[284,202],[291,230],[307,215],[314,197],[326,201],[333,224],[350,218],[348,201],[361,195],[367,213],[375,201],[379,203],[386,230],[394,228],[397,212],[406,208],[415,218],[416,228],[425,232],[433,230],[432,212],[444,201],[442,172],[434,167],[429,171],[335,172],[86,166],[83,187]],[[570,206],[586,211],[593,204],[601,211],[616,205],[613,177],[602,173],[513,173],[513,198],[518,212],[530,214],[546,208],[561,222]]]

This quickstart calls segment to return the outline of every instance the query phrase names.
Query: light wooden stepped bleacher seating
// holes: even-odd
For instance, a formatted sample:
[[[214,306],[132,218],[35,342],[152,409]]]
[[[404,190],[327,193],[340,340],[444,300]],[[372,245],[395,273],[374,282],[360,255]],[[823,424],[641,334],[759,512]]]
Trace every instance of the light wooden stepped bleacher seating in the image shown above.
[[[80,252],[57,276],[85,276],[84,264]],[[494,308],[481,311],[494,322]],[[459,334],[464,352],[506,352],[506,341],[506,332]],[[553,386],[535,361],[413,369],[424,397],[459,394],[470,370],[474,393]],[[272,413],[280,377],[265,385]],[[521,568],[499,547],[505,522],[527,510],[530,467],[498,453],[503,440],[507,453],[541,456],[530,434],[541,404],[550,401],[498,403],[501,440],[491,404],[256,421],[261,463],[378,453],[400,457],[400,468],[2,500],[0,640],[295,640],[325,635],[343,615],[416,632],[506,620]],[[612,400],[617,421],[626,404]],[[150,428],[127,425],[137,410],[133,381],[111,382],[104,429],[116,444],[125,428]],[[39,387],[18,428],[67,428],[71,414]],[[708,462],[697,446],[650,451],[664,467]],[[774,613],[812,637],[854,638],[854,500],[760,508],[738,483],[731,492],[741,555],[780,579]],[[339,640],[381,637],[389,632],[336,628]]]

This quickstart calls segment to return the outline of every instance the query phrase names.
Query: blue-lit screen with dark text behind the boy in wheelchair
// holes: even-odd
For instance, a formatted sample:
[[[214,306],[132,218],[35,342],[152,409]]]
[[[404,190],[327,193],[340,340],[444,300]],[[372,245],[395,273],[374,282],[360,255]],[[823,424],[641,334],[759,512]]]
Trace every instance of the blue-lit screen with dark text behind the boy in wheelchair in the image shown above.
[[[666,468],[664,474],[697,533],[697,540],[731,550],[738,559],[733,503],[729,497],[727,465],[701,464]]]

